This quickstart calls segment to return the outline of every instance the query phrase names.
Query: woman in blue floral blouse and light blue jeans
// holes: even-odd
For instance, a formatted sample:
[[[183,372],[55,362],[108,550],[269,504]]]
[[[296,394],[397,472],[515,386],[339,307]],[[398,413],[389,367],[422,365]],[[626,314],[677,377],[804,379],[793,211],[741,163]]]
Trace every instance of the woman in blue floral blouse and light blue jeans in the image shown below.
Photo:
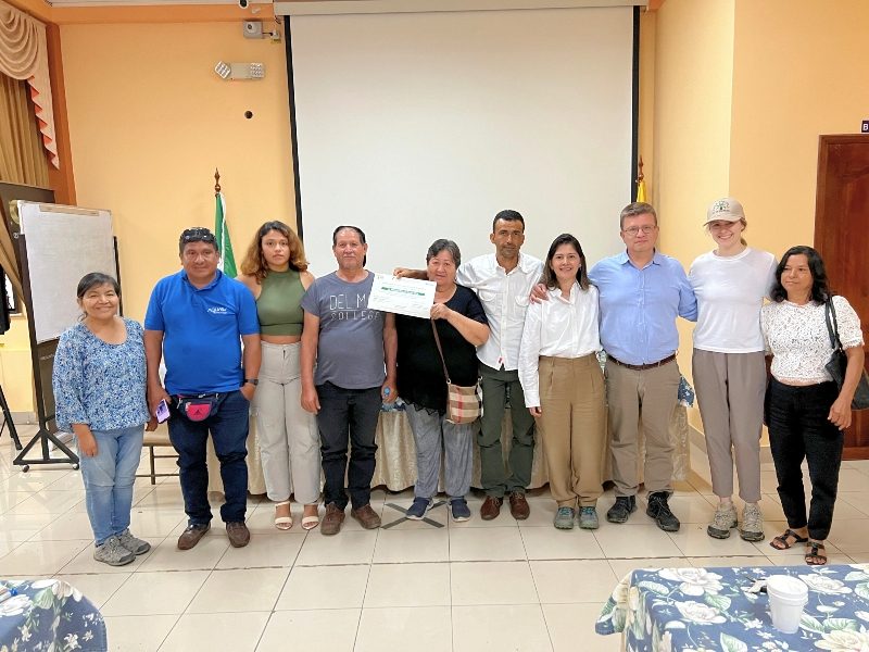
[[[144,396],[142,327],[117,315],[121,288],[111,276],[87,274],[77,296],[81,321],[54,354],[55,418],[78,442],[93,559],[123,566],[151,549],[129,531],[143,426],[156,427]]]

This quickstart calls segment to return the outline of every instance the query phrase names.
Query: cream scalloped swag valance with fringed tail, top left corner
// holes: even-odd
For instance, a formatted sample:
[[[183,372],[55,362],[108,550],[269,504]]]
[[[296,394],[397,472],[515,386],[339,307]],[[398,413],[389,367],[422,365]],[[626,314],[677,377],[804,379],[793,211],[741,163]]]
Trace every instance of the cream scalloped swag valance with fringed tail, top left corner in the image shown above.
[[[25,79],[29,85],[42,147],[51,164],[59,168],[46,26],[3,0],[0,0],[0,73]]]

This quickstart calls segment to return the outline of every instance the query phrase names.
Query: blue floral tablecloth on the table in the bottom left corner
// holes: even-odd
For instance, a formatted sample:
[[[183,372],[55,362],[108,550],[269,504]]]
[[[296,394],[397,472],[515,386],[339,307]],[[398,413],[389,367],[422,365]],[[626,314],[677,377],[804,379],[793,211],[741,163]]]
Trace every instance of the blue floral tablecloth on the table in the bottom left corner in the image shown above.
[[[0,652],[104,652],[105,624],[93,604],[60,579],[0,580],[16,594],[0,602]]]

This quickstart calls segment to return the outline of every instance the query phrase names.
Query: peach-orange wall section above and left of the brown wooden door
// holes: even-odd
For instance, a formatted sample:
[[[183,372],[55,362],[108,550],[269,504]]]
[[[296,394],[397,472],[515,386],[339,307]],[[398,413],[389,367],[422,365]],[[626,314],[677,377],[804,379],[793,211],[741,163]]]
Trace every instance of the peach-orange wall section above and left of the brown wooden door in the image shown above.
[[[869,2],[738,0],[735,16],[730,188],[750,242],[781,255],[814,242],[818,137],[869,117]]]

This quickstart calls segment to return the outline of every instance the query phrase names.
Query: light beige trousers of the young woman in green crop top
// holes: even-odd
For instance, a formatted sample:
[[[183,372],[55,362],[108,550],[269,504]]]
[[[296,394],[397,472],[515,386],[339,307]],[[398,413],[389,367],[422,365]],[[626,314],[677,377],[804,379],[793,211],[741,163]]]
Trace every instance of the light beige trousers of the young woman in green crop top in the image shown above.
[[[319,498],[319,431],[301,404],[300,351],[300,342],[263,342],[253,410],[268,498],[289,500],[292,490],[297,502],[308,505]]]

